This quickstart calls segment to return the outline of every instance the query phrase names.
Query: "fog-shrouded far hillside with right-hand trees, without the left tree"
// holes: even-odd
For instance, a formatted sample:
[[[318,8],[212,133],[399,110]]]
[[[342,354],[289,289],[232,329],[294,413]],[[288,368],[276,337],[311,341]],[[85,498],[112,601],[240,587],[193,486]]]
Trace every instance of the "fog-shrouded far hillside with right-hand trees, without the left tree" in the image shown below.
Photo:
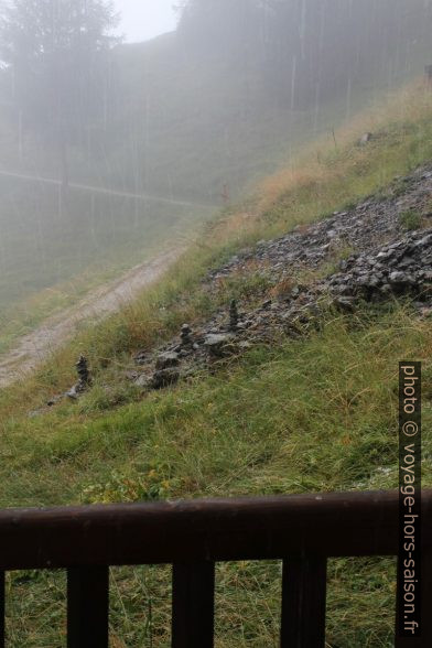
[[[431,12],[423,0],[201,0],[176,33],[116,46],[102,109],[84,115],[69,145],[71,181],[197,205],[0,179],[0,307],[131,267],[306,141],[333,141],[363,106],[422,74]],[[0,169],[60,177],[55,147],[18,114],[6,71],[0,80]]]

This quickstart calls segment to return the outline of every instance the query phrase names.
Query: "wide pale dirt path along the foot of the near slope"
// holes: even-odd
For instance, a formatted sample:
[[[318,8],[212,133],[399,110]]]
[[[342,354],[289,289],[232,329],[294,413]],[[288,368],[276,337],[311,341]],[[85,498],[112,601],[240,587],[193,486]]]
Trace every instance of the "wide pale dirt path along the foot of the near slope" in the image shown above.
[[[46,320],[39,328],[22,337],[14,349],[0,356],[0,388],[12,385],[35,369],[73,336],[80,322],[101,320],[131,301],[140,290],[162,277],[184,249],[185,246],[179,246],[137,266],[120,280],[95,290],[79,304]]]

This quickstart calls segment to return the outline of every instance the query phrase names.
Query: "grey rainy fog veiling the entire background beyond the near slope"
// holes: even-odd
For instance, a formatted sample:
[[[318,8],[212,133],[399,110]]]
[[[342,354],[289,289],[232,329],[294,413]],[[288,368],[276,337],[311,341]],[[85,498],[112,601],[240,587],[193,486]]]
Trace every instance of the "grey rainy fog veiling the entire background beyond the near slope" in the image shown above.
[[[0,3],[6,325],[190,240],[432,63],[428,0],[172,4]]]

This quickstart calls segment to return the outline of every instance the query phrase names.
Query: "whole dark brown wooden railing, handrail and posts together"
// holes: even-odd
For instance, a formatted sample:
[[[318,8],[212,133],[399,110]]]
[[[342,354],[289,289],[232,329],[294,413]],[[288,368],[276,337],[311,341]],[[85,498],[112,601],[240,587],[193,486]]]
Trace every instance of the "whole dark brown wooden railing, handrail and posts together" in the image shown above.
[[[421,639],[432,646],[432,492],[422,496]],[[283,561],[282,647],[325,646],[326,561],[398,554],[398,494],[0,511],[0,646],[4,572],[67,570],[67,645],[107,648],[110,565],[173,564],[172,646],[214,645],[215,563]],[[377,619],[379,623],[379,619]]]

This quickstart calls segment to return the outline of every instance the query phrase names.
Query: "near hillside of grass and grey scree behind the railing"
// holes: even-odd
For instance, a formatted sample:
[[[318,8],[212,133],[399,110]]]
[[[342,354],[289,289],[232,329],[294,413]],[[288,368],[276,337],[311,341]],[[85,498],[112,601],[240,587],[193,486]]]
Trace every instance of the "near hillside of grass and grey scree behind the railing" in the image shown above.
[[[2,506],[395,488],[400,358],[422,360],[432,422],[431,117],[424,83],[357,116],[1,389]],[[280,645],[280,566],[218,564],[217,648]],[[393,645],[395,575],[393,558],[328,561],[328,647]],[[110,579],[114,645],[165,648],[170,568]],[[57,645],[64,592],[58,570],[7,574],[11,648]]]

